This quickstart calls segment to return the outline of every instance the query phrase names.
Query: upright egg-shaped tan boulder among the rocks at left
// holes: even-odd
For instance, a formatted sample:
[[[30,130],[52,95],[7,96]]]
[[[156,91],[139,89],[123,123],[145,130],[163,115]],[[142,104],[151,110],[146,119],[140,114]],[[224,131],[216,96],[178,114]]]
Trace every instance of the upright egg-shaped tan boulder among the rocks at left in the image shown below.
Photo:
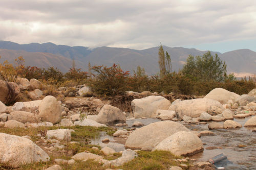
[[[61,105],[52,95],[46,96],[39,105],[39,114],[43,122],[57,124],[61,120]]]

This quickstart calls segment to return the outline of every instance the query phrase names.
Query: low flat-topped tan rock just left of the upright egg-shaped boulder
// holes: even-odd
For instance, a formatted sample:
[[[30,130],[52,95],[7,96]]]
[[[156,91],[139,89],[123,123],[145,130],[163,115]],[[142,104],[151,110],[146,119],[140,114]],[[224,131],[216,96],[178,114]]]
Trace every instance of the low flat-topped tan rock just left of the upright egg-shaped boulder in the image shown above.
[[[25,111],[13,111],[9,114],[8,120],[17,120],[21,123],[36,123],[40,122],[40,119],[37,118],[37,115],[25,112]]]

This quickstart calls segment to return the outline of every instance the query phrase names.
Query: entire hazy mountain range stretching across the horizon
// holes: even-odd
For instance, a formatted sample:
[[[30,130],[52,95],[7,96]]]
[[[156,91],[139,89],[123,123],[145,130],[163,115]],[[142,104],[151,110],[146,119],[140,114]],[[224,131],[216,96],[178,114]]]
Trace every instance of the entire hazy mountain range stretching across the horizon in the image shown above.
[[[148,75],[156,74],[158,67],[158,48],[152,47],[145,50],[133,50],[130,48],[97,47],[90,49],[83,46],[56,45],[54,43],[30,43],[18,44],[11,41],[0,41],[0,62],[8,60],[13,63],[14,59],[23,56],[25,64],[30,66],[44,67],[54,66],[62,72],[67,72],[76,62],[78,68],[88,69],[91,65],[111,66],[119,64],[123,70],[133,71],[137,66],[145,68]],[[206,51],[195,48],[163,46],[172,59],[173,70],[178,71],[186,62],[188,55],[203,55]],[[256,74],[256,52],[248,49],[235,50],[226,53],[211,52],[226,62],[228,72],[246,75]]]

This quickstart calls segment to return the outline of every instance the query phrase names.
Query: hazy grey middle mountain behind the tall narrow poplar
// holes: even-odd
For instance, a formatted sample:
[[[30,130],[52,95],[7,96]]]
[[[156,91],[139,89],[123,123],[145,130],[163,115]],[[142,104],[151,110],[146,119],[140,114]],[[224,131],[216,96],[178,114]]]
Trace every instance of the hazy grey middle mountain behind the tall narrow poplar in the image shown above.
[[[163,46],[163,48],[172,58],[173,70],[182,68],[189,54],[197,56],[205,53],[194,48],[167,46]],[[156,74],[159,71],[158,47],[141,51],[131,50],[129,48],[98,47],[95,48],[84,61],[86,63],[91,62],[91,65],[103,64],[111,66],[113,63],[116,63],[120,64],[123,70],[129,71],[136,69],[139,65],[144,67],[146,73],[149,75]]]

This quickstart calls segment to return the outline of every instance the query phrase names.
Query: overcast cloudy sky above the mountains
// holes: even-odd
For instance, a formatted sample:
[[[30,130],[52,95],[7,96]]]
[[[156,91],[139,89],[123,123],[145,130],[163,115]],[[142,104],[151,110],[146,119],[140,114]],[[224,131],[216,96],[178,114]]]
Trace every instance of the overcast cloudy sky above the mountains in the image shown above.
[[[256,1],[1,0],[0,40],[256,51]]]

